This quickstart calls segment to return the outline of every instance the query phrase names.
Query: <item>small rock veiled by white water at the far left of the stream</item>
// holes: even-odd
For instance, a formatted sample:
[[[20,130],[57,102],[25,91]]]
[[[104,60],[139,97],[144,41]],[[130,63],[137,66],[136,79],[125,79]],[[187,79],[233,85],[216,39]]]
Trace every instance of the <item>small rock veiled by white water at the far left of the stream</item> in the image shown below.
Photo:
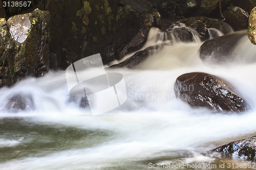
[[[34,110],[33,97],[31,94],[15,94],[8,99],[6,109],[10,112]]]

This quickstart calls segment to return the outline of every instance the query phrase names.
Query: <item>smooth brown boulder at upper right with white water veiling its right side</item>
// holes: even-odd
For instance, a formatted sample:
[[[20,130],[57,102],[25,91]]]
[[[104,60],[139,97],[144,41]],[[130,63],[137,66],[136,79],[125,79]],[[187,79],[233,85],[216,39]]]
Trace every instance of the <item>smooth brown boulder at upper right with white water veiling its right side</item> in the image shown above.
[[[205,41],[200,47],[200,58],[207,64],[223,64],[236,60],[232,55],[237,42],[246,35],[240,31]]]

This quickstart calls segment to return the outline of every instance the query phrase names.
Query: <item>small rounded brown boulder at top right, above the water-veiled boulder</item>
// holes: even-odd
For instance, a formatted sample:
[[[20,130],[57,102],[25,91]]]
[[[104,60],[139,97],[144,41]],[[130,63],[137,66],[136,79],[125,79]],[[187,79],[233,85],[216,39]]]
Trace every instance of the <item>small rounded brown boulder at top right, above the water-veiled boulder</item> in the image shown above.
[[[249,14],[240,7],[228,7],[223,12],[225,22],[228,23],[235,31],[248,28]]]

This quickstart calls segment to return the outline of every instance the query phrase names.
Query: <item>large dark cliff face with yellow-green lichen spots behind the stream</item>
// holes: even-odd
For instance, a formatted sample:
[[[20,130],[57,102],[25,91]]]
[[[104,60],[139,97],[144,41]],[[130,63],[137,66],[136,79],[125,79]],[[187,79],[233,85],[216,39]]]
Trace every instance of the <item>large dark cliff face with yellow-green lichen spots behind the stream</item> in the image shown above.
[[[160,27],[160,14],[145,0],[47,1],[46,10],[50,51],[62,69],[96,53],[104,64],[121,59],[143,45],[151,27]]]

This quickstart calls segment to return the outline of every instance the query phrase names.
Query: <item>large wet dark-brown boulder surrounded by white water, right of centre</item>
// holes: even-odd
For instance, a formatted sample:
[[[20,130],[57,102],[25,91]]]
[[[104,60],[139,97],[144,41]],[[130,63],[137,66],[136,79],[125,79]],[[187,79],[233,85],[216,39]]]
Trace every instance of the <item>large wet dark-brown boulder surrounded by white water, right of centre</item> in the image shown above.
[[[181,75],[175,82],[175,94],[191,106],[207,107],[216,111],[242,112],[248,104],[230,85],[204,72]]]

